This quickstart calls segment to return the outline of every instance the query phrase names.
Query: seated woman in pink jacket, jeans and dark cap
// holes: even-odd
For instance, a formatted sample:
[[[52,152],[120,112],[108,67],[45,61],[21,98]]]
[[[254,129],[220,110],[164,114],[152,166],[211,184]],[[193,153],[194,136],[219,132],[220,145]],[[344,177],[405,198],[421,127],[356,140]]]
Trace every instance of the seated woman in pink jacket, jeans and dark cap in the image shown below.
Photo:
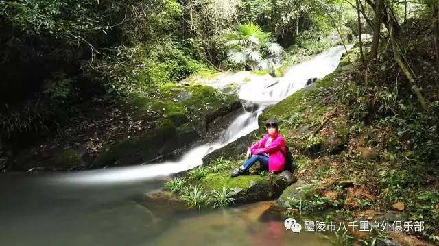
[[[231,177],[247,175],[249,173],[248,169],[256,162],[261,163],[268,171],[283,171],[285,168],[285,156],[283,154],[286,151],[285,138],[279,134],[277,124],[277,121],[268,121],[265,124],[268,133],[258,143],[248,147],[248,159],[241,167],[233,171]]]

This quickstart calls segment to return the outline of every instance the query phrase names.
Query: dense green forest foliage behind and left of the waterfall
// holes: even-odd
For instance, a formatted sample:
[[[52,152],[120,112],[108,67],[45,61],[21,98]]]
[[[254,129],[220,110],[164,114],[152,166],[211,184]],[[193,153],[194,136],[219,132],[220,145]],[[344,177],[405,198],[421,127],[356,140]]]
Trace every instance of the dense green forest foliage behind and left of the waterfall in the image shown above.
[[[352,13],[340,1],[0,1],[1,153],[11,158],[54,132],[74,132],[62,127],[76,122],[71,116],[87,118],[88,108],[114,114],[113,105],[130,121],[135,112],[119,110],[127,99],[163,104],[161,86],[193,73],[272,70],[263,56],[293,44],[308,54],[321,51],[325,46],[316,41],[333,27],[342,36],[351,32],[343,24],[355,21]],[[228,59],[243,48],[239,38],[258,42],[253,60]],[[169,113],[152,112],[158,117],[142,128]]]

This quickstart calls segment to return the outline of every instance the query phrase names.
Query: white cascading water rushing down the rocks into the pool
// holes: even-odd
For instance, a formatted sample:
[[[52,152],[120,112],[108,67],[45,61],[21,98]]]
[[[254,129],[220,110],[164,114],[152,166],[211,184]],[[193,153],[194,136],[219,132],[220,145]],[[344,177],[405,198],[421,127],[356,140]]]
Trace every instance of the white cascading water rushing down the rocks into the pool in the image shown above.
[[[352,46],[353,45],[346,45],[346,49],[351,49]],[[319,79],[334,71],[344,52],[345,48],[343,46],[333,47],[307,62],[292,66],[281,78],[269,76],[265,77],[263,81],[241,84],[239,99],[253,103],[254,108],[257,110],[254,110],[254,112],[243,112],[229,125],[219,140],[194,147],[185,153],[178,161],[69,173],[60,177],[59,180],[78,184],[114,184],[115,182],[149,180],[154,177],[166,176],[200,166],[202,164],[202,158],[207,153],[224,147],[237,138],[256,130],[259,127],[257,121],[258,116],[265,108],[278,103],[300,88],[305,87],[308,79]],[[220,86],[216,87],[224,87],[227,84],[228,83],[224,81],[217,82],[217,85]]]

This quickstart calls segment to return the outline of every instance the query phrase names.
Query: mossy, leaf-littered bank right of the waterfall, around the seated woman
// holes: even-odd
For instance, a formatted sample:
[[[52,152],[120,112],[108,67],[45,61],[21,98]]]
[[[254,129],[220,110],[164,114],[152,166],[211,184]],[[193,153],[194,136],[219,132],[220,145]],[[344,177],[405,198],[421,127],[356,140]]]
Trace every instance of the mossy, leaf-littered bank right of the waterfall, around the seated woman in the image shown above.
[[[439,225],[436,169],[434,165],[420,161],[423,152],[410,151],[401,141],[401,129],[395,128],[392,122],[401,120],[401,114],[389,114],[396,109],[385,104],[388,99],[379,93],[380,89],[386,91],[387,88],[382,87],[380,78],[368,78],[372,81],[369,81],[370,86],[379,86],[372,90],[374,93],[366,93],[367,86],[359,87],[360,84],[365,86],[366,66],[359,62],[355,49],[350,55],[352,64],[342,62],[331,75],[312,87],[299,90],[259,117],[259,125],[267,119],[281,121],[281,132],[292,147],[297,167],[294,173],[297,182],[285,188],[271,209],[284,218],[324,218],[337,223],[424,223],[422,230],[416,231],[376,229],[372,232],[351,230],[337,236],[329,234],[331,241],[339,240],[338,243],[344,245],[377,241],[385,245],[434,243]],[[377,69],[372,64],[369,67]],[[416,101],[404,104],[418,107]],[[254,136],[254,140],[257,137]],[[202,204],[204,201],[200,197],[203,195],[205,201],[209,201],[213,193],[206,190],[214,188],[222,191],[222,199],[219,199],[224,201],[222,204],[231,206],[237,191],[249,189],[261,180],[278,178],[253,171],[250,176],[230,179],[228,173],[239,167],[242,158],[244,156],[236,158],[225,152],[224,157],[214,160],[211,166],[195,169],[185,178],[171,180],[166,187],[179,194],[189,206],[198,208],[202,206],[196,201]],[[192,189],[185,193],[182,183],[198,187],[197,192]],[[276,185],[272,183],[272,186]],[[259,199],[267,199],[265,195],[270,191],[265,191],[267,193]],[[198,200],[194,199],[197,195]],[[215,207],[215,199],[218,197],[206,204]]]

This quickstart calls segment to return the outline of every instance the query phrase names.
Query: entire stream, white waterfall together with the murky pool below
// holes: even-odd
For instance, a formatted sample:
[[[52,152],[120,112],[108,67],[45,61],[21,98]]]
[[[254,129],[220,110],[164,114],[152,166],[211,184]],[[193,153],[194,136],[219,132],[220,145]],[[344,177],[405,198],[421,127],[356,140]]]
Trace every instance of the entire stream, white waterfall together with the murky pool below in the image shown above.
[[[350,49],[352,45],[346,46]],[[71,173],[1,173],[0,245],[330,245],[316,233],[294,234],[279,218],[258,219],[270,202],[225,210],[176,212],[139,204],[169,175],[202,164],[202,157],[257,129],[268,106],[338,66],[344,47],[292,66],[284,77],[253,75],[239,98],[254,104],[222,136],[193,147],[180,160]],[[229,79],[230,81],[230,79]],[[220,88],[227,79],[211,86]]]

